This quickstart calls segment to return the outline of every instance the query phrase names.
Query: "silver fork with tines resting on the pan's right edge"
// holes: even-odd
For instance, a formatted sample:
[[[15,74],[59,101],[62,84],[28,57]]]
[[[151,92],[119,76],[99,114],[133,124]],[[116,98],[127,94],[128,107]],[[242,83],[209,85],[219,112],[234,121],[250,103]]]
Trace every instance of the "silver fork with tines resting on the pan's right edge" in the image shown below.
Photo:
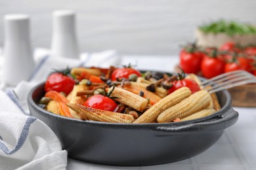
[[[251,75],[251,73],[248,73],[247,71],[239,70],[224,73],[205,80],[200,84],[200,86],[202,86],[203,89],[205,89],[207,86],[211,86],[205,90],[207,90],[209,93],[215,93],[249,83],[256,83],[256,76]]]

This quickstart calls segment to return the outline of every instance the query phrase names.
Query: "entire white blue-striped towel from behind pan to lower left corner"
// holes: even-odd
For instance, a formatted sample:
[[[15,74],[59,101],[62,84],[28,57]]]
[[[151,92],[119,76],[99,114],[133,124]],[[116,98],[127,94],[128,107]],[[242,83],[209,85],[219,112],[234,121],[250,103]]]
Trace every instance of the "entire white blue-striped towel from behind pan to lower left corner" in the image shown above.
[[[2,86],[0,90],[0,169],[66,169],[67,152],[62,150],[58,137],[46,124],[30,116],[28,92],[45,81],[54,69],[121,65],[121,58],[114,50],[68,59],[54,58],[49,51],[37,49],[34,59],[36,67],[29,81],[22,81],[14,88]]]

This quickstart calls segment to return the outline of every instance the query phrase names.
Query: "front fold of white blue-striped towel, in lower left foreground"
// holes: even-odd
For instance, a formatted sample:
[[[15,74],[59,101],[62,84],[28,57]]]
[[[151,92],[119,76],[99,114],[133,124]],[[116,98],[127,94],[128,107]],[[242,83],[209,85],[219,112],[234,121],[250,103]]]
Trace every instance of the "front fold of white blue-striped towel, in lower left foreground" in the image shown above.
[[[66,169],[67,152],[41,120],[0,90],[0,169]]]

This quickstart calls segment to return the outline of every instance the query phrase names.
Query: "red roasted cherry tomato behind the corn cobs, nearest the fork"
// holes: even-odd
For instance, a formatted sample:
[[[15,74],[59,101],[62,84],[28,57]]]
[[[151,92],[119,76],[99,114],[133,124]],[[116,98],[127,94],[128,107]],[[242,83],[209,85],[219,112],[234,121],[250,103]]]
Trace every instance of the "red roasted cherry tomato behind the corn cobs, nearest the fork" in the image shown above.
[[[173,81],[173,87],[169,89],[168,93],[172,93],[175,90],[182,88],[184,86],[188,87],[192,93],[198,92],[200,90],[200,86],[196,81],[190,78],[185,78],[182,80]]]

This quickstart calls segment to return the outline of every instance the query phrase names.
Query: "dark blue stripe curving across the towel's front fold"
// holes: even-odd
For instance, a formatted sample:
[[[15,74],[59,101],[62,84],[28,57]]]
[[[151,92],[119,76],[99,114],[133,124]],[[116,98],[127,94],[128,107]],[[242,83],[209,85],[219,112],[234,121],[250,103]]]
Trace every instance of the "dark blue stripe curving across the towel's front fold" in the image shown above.
[[[35,122],[36,118],[29,116],[28,119],[26,120],[26,123],[22,129],[22,132],[20,134],[20,137],[18,139],[18,142],[16,143],[15,147],[13,150],[10,150],[2,141],[0,141],[0,149],[3,150],[3,152],[5,152],[5,154],[11,155],[14,154],[15,152],[17,152],[22,145],[24,144],[24,142],[26,141],[26,138],[28,137],[28,133],[30,130],[30,125]],[[3,140],[3,139],[1,139]]]

